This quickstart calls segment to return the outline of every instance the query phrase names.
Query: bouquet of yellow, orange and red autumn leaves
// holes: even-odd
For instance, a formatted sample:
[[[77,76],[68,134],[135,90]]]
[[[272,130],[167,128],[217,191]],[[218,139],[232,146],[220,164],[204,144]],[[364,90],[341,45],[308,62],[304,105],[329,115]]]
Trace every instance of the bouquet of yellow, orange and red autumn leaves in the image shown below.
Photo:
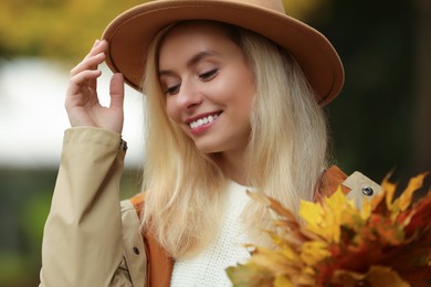
[[[252,246],[246,264],[227,269],[233,286],[431,286],[431,190],[413,193],[425,174],[360,210],[338,189],[320,203],[302,202],[298,220],[277,201],[251,195],[280,215],[269,232],[276,248]]]

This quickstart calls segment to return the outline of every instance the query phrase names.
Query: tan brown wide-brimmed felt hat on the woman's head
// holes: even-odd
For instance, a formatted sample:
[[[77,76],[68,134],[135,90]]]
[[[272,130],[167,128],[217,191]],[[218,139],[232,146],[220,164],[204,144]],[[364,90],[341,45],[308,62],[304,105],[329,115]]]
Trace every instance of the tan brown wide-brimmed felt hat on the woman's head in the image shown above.
[[[344,84],[343,64],[329,41],[309,25],[285,14],[282,0],[158,0],[136,6],[115,18],[103,33],[106,63],[141,91],[147,49],[162,28],[181,20],[214,20],[262,34],[298,62],[320,105]]]

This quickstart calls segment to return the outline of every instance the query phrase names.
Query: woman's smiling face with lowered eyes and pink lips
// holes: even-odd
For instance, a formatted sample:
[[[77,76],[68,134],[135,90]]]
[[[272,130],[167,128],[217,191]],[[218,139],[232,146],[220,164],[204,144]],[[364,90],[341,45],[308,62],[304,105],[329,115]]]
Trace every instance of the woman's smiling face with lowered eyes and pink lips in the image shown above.
[[[206,153],[243,151],[250,137],[254,78],[241,49],[211,24],[182,24],[159,50],[168,116]]]

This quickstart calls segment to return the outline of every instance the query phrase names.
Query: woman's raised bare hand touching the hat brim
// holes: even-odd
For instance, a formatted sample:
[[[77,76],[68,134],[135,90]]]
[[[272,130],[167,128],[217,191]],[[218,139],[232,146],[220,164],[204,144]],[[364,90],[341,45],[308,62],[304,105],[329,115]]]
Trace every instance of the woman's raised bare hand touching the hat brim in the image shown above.
[[[109,107],[98,102],[97,66],[105,61],[106,41],[96,41],[85,59],[71,71],[65,108],[72,127],[91,126],[122,134],[124,123],[124,79],[122,74],[111,78]]]

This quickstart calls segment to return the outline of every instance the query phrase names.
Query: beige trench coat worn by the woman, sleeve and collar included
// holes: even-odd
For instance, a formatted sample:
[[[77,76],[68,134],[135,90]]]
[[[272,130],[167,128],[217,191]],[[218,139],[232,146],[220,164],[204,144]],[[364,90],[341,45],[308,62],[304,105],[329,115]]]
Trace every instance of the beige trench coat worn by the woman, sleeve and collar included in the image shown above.
[[[118,204],[126,149],[120,135],[103,129],[81,127],[65,131],[43,234],[41,287],[169,285],[172,262],[158,258],[162,251],[154,242],[148,248],[133,202]],[[348,196],[356,204],[366,196],[364,187],[370,187],[374,195],[379,192],[379,185],[359,172],[343,185],[350,190]],[[151,270],[149,249],[150,262],[158,259],[151,263],[157,265]]]

